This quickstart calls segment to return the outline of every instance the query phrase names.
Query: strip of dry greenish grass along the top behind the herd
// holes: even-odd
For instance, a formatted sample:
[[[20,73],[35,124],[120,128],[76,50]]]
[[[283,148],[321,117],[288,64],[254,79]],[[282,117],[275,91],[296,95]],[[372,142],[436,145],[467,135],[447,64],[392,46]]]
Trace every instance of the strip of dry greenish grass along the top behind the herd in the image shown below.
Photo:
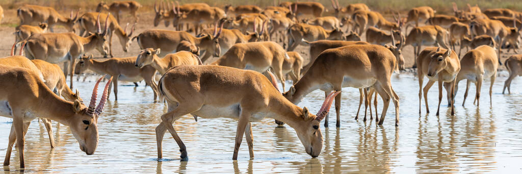
[[[136,0],[143,5],[142,10],[152,10],[153,0]],[[304,2],[305,0],[301,0]],[[330,13],[332,11],[330,0],[308,0],[322,3]],[[0,0],[0,5],[7,9],[16,9],[23,4],[35,4],[43,6],[51,6],[58,10],[70,11],[75,9],[93,10],[100,1],[83,1],[83,0],[55,0],[55,1],[35,1],[35,0]],[[106,1],[112,2],[112,1]],[[203,2],[211,6],[223,7],[226,4],[232,5],[258,5],[260,7],[273,6],[277,2],[270,0],[179,0],[181,4]],[[487,8],[509,8],[517,11],[522,10],[522,3],[519,0],[469,0],[469,1],[454,1],[454,0],[436,0],[436,1],[418,1],[418,0],[341,0],[340,5],[346,7],[350,3],[364,3],[372,10],[380,11],[381,13],[390,13],[392,11],[401,11],[406,14],[406,11],[418,6],[430,6],[442,14],[452,14],[452,2],[456,2],[459,8],[467,8],[466,4],[478,4],[482,9]],[[327,15],[327,14],[326,14]]]

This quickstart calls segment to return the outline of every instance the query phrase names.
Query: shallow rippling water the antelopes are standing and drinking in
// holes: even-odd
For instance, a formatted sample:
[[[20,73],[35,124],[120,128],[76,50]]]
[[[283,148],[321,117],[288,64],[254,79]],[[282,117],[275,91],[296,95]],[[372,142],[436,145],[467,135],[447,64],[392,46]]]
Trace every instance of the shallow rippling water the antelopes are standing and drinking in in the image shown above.
[[[384,125],[372,121],[355,121],[359,91],[345,88],[342,92],[341,127],[335,128],[332,107],[330,128],[321,129],[325,145],[321,155],[311,158],[305,153],[295,131],[288,125],[276,127],[272,119],[253,123],[254,154],[250,160],[246,141],[237,161],[231,160],[234,149],[236,121],[202,119],[195,122],[185,116],[174,123],[187,146],[189,161],[179,161],[179,147],[169,133],[163,140],[163,157],[158,162],[155,127],[166,105],[152,102],[150,87],[134,87],[123,83],[118,87],[120,100],[113,96],[99,119],[100,142],[94,155],[85,155],[68,128],[58,129],[53,123],[56,147],[50,148],[42,123],[34,120],[26,136],[25,172],[69,173],[413,173],[413,172],[509,172],[522,171],[522,78],[512,83],[512,94],[502,95],[505,71],[499,73],[493,87],[493,107],[489,106],[489,82],[483,83],[480,109],[473,106],[474,85],[471,85],[465,107],[462,107],[465,82],[460,82],[456,96],[456,116],[447,111],[445,98],[441,115],[436,116],[438,89],[429,92],[430,114],[418,113],[418,81],[413,74],[392,77],[400,97],[400,125],[395,127],[395,109],[390,102]],[[90,98],[94,82],[75,83],[84,99]],[[425,79],[424,83],[426,83]],[[287,85],[290,86],[290,85]],[[288,88],[288,87],[287,87]],[[307,95],[299,106],[317,112],[324,92]],[[470,102],[471,101],[471,102]],[[364,107],[364,106],[363,106]],[[364,109],[364,108],[361,109]],[[378,112],[381,113],[379,99]],[[5,157],[11,120],[0,118],[0,158]],[[17,150],[11,165],[4,172],[18,172]]]

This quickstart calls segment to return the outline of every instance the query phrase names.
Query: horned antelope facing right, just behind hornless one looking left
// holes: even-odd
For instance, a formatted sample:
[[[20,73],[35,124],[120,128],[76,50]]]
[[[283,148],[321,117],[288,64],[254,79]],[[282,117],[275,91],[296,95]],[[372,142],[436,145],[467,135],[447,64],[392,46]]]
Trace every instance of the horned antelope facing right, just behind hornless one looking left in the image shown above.
[[[221,31],[222,27],[220,31],[217,31],[215,27],[213,34],[201,34],[200,37],[194,37],[186,31],[149,29],[138,34],[133,40],[137,39],[139,48],[142,50],[146,48],[161,49],[159,56],[175,53],[181,41],[189,41],[199,47],[201,51],[209,53],[208,56],[203,57],[202,61],[205,62],[205,58],[210,57],[211,53],[214,53],[214,56],[220,55],[221,48],[217,39],[220,37]]]

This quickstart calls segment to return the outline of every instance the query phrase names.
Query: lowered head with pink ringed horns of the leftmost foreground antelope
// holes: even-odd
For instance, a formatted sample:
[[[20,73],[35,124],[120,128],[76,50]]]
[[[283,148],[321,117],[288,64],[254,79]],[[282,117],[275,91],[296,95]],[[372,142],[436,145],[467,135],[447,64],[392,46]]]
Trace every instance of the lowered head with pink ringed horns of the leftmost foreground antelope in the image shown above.
[[[94,85],[89,107],[86,107],[78,100],[74,101],[74,115],[73,117],[70,117],[68,125],[71,132],[73,132],[76,141],[78,141],[81,151],[85,152],[87,155],[94,154],[96,147],[98,146],[98,117],[102,113],[103,107],[105,106],[107,92],[109,91],[109,84],[112,80],[111,77],[111,79],[109,79],[105,85],[100,103],[98,103],[98,106],[96,106],[98,85],[100,84],[102,78],[98,79],[96,85]]]

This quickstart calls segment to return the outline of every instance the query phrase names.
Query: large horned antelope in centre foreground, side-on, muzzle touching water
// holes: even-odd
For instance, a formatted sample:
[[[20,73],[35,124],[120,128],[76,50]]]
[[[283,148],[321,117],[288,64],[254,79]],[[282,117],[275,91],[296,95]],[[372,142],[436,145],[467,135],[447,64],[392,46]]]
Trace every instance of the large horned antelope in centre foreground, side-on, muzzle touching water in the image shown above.
[[[185,65],[170,69],[158,84],[158,90],[167,98],[169,107],[168,112],[161,115],[162,122],[156,127],[158,160],[163,158],[162,141],[167,130],[180,147],[181,160],[188,160],[185,144],[172,126],[175,120],[186,114],[208,119],[238,119],[233,160],[238,159],[243,134],[246,136],[250,158],[254,158],[250,122],[260,121],[265,117],[280,120],[293,127],[306,153],[313,158],[319,156],[323,148],[319,124],[340,91],[331,92],[319,112],[314,115],[306,107],[300,108],[292,104],[272,85],[277,85],[273,78],[270,83],[260,73],[231,67]]]

